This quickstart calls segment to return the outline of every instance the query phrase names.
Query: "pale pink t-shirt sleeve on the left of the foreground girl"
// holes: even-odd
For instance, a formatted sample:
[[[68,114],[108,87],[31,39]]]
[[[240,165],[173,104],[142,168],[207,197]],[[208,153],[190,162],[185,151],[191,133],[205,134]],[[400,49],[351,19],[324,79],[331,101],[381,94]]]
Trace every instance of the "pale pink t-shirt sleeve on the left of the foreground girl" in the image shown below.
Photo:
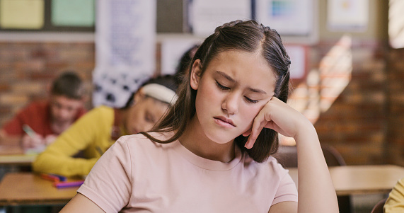
[[[132,195],[131,157],[127,136],[113,144],[93,166],[77,192],[105,212],[119,212]]]

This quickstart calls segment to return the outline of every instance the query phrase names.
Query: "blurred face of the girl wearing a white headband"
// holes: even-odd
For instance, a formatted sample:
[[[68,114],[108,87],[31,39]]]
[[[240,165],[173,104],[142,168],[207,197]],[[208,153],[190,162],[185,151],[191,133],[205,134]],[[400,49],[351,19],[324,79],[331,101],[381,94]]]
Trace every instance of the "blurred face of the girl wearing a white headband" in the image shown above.
[[[163,116],[168,103],[144,96],[138,92],[134,97],[134,105],[129,108],[127,117],[122,117],[128,134],[146,132]]]

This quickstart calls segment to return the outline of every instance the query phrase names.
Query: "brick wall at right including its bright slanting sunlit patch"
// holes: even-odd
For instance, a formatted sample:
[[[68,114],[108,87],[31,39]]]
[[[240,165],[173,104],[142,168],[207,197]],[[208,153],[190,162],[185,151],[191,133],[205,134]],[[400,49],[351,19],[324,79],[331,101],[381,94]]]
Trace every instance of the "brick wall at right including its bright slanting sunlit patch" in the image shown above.
[[[310,47],[308,75],[289,99],[314,123],[321,144],[334,146],[348,165],[387,162],[385,46],[346,36],[322,40]]]

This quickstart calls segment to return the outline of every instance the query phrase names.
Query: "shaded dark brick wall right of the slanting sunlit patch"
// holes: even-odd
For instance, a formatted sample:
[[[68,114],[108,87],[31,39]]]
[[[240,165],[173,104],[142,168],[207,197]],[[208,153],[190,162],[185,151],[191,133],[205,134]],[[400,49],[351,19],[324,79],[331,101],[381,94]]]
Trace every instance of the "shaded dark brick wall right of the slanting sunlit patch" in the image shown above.
[[[329,48],[329,42],[318,46],[320,52]],[[340,151],[348,165],[386,163],[386,51],[380,42],[353,40],[351,52],[349,84],[318,117],[318,137]]]

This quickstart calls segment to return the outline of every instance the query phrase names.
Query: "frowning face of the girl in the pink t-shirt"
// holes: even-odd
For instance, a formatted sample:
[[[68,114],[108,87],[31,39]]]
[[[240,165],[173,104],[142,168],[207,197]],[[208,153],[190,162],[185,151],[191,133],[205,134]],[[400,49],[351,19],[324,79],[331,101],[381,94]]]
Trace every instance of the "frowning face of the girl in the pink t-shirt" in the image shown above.
[[[191,87],[197,90],[194,131],[225,144],[247,132],[263,106],[274,96],[276,77],[258,52],[225,51],[200,76],[199,59],[192,65]]]

